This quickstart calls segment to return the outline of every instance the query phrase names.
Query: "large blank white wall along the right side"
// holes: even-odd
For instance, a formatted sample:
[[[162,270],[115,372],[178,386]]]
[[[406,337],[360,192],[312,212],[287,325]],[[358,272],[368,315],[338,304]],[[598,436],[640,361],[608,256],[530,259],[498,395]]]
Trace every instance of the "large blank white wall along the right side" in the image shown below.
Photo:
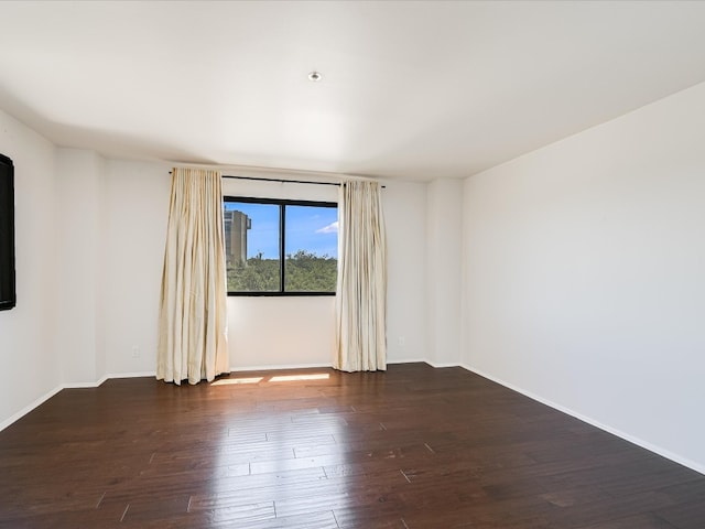
[[[705,471],[705,84],[466,181],[469,368]]]

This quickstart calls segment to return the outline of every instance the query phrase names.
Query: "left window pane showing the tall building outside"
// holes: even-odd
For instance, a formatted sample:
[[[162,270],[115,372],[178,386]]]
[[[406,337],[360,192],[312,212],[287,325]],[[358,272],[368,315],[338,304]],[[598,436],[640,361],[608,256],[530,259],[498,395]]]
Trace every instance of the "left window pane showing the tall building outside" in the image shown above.
[[[279,292],[278,204],[225,202],[228,292]]]

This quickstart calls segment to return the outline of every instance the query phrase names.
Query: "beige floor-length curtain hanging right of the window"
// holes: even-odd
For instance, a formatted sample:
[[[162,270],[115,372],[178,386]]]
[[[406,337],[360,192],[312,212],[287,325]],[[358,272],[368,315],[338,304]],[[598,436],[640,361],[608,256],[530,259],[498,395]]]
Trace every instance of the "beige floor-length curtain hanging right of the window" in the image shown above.
[[[377,182],[340,186],[333,366],[344,371],[387,369],[387,240]]]

